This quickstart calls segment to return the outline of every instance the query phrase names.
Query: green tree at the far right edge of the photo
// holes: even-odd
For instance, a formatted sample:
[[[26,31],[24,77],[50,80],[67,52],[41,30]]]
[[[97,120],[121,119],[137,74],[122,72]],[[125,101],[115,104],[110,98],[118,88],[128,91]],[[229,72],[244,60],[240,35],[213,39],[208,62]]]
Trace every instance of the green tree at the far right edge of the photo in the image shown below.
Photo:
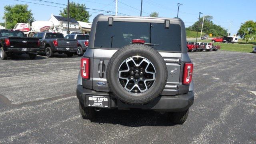
[[[242,39],[246,40],[246,43],[250,38],[256,38],[256,22],[249,20],[245,23],[242,23],[240,29],[237,32],[237,35]]]

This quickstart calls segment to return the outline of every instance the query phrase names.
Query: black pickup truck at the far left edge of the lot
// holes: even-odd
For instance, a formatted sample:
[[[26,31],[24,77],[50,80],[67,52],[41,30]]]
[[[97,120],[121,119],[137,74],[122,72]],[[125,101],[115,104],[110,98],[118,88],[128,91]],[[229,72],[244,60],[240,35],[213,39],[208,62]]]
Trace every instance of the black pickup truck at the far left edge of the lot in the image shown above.
[[[30,59],[34,59],[38,50],[38,38],[26,37],[22,31],[18,30],[0,30],[0,57],[2,60],[22,53],[28,54]]]

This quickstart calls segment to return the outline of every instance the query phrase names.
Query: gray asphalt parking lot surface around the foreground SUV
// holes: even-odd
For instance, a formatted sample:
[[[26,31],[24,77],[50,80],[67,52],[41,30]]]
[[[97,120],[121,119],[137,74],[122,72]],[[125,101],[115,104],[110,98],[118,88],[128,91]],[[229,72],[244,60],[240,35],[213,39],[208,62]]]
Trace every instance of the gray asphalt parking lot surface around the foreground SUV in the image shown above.
[[[256,143],[256,54],[189,55],[195,100],[183,125],[146,110],[103,110],[83,120],[78,56],[0,60],[0,143]]]

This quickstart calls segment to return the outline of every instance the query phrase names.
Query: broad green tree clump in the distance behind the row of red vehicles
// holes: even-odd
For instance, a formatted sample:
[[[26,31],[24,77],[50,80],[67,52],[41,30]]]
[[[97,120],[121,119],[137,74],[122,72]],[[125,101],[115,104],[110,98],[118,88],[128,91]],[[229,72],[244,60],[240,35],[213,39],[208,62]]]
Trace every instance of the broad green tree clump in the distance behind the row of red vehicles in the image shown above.
[[[218,26],[212,22],[212,16],[204,16],[204,26],[202,32],[206,34],[212,34],[213,36],[227,36],[228,32],[221,26]],[[202,28],[203,18],[200,18],[199,30]],[[192,26],[186,28],[186,30],[197,31],[198,21],[196,21]]]

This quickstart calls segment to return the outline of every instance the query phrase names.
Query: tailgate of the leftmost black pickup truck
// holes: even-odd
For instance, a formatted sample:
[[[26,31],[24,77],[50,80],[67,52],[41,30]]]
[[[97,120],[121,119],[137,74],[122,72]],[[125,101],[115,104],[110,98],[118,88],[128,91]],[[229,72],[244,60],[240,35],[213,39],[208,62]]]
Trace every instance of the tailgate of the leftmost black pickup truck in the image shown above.
[[[8,37],[11,48],[38,48],[38,38]]]

